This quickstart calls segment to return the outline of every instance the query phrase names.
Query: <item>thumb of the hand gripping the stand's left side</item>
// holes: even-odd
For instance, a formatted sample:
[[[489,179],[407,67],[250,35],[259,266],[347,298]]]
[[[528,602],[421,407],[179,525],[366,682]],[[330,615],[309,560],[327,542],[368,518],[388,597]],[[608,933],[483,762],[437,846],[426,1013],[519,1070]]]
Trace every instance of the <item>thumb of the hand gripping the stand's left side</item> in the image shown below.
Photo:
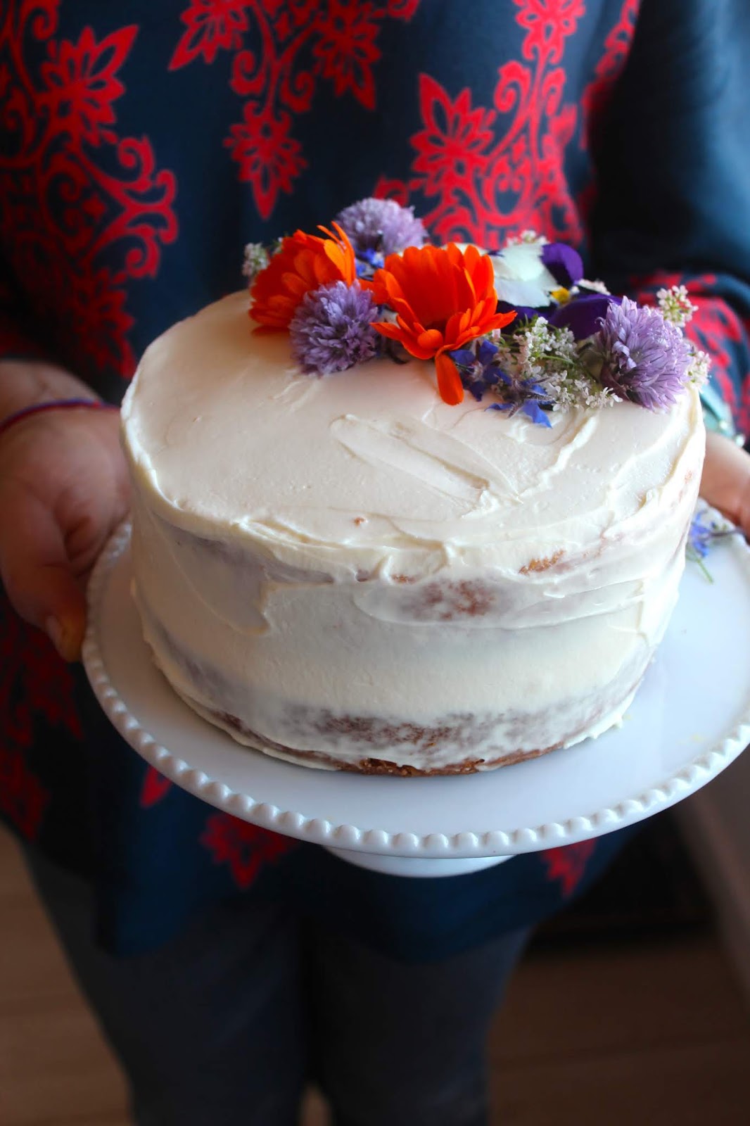
[[[86,629],[86,598],[48,504],[23,489],[0,497],[0,577],[14,608],[74,661]]]

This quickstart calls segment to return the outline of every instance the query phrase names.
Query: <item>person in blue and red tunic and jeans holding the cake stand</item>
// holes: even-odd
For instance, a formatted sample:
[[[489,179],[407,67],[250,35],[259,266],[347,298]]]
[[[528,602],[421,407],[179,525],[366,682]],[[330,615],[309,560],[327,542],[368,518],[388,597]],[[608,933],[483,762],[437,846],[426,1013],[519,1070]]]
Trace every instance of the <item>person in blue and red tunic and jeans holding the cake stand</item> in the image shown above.
[[[750,534],[747,12],[459,7],[0,12],[0,812],[143,1126],[292,1123],[311,1075],[342,1126],[480,1126],[530,928],[619,847],[437,881],[349,867],[171,786],[66,663],[128,508],[125,381],[236,288],[243,243],[389,195],[438,243],[533,227],[613,292],[684,285],[714,364],[702,493]]]

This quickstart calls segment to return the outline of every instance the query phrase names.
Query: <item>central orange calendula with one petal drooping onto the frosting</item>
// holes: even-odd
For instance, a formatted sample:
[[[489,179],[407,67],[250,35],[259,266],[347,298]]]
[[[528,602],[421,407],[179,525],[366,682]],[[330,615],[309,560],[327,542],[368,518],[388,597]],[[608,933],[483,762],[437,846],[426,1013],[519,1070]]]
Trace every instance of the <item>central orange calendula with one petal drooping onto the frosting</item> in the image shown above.
[[[396,314],[395,324],[378,321],[373,328],[418,359],[434,356],[440,397],[450,405],[462,402],[464,388],[447,352],[516,315],[497,312],[492,261],[476,247],[408,247],[386,258],[370,286],[377,304]]]

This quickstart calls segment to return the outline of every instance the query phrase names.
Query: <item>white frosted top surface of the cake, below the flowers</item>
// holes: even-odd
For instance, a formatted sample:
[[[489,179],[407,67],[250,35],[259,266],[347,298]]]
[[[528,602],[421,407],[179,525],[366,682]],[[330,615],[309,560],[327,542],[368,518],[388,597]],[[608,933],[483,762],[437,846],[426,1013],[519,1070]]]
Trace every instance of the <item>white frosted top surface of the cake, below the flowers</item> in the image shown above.
[[[669,506],[699,464],[699,396],[550,412],[548,426],[436,394],[435,365],[374,358],[303,374],[287,333],[252,333],[247,293],[170,329],[123,409],[163,515],[277,556],[437,552],[517,568]]]

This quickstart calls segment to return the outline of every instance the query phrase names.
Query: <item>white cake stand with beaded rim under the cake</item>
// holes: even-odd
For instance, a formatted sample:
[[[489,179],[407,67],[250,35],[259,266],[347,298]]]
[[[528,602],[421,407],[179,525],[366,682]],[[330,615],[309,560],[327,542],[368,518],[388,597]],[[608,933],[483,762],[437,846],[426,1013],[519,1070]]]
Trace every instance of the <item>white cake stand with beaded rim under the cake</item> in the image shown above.
[[[699,789],[750,742],[750,552],[688,563],[657,660],[622,727],[541,759],[430,778],[312,770],[199,718],[151,661],[130,596],[130,529],[90,583],[83,660],[102,708],[148,762],[245,821],[399,875],[472,872],[633,824]]]

